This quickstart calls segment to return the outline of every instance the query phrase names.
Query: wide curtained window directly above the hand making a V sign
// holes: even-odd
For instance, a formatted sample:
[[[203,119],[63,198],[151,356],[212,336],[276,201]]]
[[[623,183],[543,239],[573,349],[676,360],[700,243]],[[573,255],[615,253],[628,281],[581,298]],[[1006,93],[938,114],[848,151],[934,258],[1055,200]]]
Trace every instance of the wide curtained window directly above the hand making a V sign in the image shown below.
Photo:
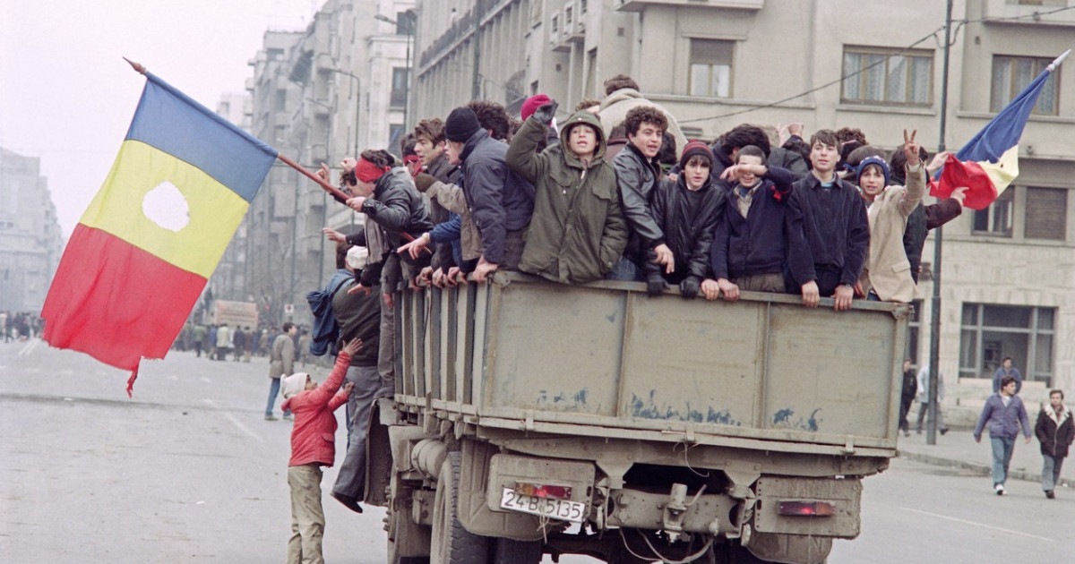
[[[841,101],[929,105],[933,102],[933,52],[844,47]]]

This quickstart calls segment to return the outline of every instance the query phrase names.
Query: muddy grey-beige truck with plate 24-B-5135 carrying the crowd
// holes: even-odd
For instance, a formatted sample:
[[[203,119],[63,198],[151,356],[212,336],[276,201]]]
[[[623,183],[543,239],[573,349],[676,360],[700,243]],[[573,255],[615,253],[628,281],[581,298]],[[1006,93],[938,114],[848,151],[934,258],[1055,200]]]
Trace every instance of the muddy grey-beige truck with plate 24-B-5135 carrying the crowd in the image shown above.
[[[404,292],[366,502],[388,561],[823,562],[897,455],[909,306],[517,273]]]

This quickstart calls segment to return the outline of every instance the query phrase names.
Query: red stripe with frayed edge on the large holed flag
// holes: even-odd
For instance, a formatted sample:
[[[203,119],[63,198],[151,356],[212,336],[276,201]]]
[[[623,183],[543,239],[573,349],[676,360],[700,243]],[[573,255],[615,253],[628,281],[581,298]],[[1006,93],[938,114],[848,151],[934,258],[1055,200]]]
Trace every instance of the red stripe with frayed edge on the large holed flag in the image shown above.
[[[162,359],[205,278],[82,223],[63,250],[42,308],[49,345],[119,368]]]

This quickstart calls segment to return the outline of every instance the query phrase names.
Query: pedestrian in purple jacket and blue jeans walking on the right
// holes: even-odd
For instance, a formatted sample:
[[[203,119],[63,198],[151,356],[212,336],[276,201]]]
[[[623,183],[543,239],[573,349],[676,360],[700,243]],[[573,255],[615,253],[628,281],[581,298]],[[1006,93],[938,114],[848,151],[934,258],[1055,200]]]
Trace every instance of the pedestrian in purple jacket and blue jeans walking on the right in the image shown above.
[[[993,490],[997,495],[1004,495],[1004,482],[1007,480],[1008,464],[1012,463],[1020,424],[1027,444],[1030,444],[1030,420],[1027,419],[1022,400],[1015,394],[1014,376],[1002,378],[1001,391],[986,400],[978,424],[974,425],[976,443],[981,443],[981,431],[986,423],[989,423],[989,442],[993,449]]]

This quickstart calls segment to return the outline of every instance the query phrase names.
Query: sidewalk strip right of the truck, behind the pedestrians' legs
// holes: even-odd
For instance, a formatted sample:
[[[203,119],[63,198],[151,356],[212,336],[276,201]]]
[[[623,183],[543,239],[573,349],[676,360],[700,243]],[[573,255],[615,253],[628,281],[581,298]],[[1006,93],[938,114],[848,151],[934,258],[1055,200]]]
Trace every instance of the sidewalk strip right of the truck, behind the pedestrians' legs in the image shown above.
[[[916,434],[914,422],[912,422],[911,436],[905,437],[901,433],[898,447],[900,457],[907,460],[968,469],[983,476],[989,476],[992,471],[992,451],[989,448],[988,432],[983,435],[981,443],[975,443],[970,429],[951,429],[944,435],[937,433],[936,445],[927,445],[926,432],[922,431],[921,435]],[[1075,466],[1075,462],[1071,460],[1071,457],[1064,459],[1058,487],[1071,488],[1075,486],[1075,467],[1073,466]],[[1012,454],[1012,464],[1008,467],[1008,478],[1042,481],[1041,444],[1033,436],[1030,437],[1029,445],[1023,443],[1022,435],[1016,439],[1015,452]]]

